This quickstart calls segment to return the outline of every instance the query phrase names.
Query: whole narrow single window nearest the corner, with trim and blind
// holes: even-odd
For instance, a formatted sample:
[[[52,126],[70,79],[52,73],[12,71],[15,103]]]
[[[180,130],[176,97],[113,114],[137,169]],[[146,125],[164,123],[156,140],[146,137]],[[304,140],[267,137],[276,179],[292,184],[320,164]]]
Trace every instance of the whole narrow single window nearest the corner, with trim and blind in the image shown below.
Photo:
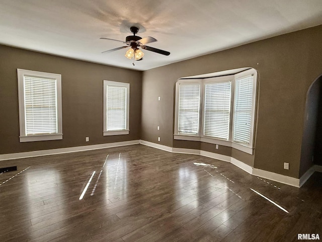
[[[130,84],[104,81],[103,135],[129,134]]]

